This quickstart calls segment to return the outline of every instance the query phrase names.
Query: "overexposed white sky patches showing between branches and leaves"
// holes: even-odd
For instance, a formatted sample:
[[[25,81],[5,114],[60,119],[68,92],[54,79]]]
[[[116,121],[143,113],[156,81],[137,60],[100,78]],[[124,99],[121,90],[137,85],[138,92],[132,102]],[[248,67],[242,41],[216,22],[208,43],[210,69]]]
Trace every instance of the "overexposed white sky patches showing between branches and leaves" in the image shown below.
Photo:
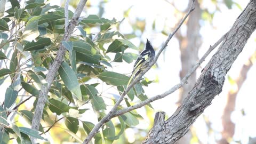
[[[90,9],[85,10],[85,13],[82,13],[83,16],[89,15],[89,14],[98,14],[98,4],[100,1],[90,1],[92,6]],[[172,2],[170,0],[170,2]],[[183,11],[187,7],[188,1],[178,1],[174,0],[174,4],[176,9],[179,11]],[[236,0],[239,5],[241,5],[242,9],[244,9],[249,2],[249,0],[244,1],[238,1]],[[60,5],[60,1],[51,0],[51,5]],[[103,13],[104,18],[112,19],[115,17],[117,20],[122,20],[124,18],[123,12],[129,7],[131,7],[131,11],[129,13],[129,17],[126,18],[120,25],[120,31],[122,34],[129,34],[132,32],[132,27],[130,26],[129,21],[135,22],[138,19],[145,19],[146,20],[146,30],[141,35],[141,37],[133,38],[131,39],[131,42],[139,46],[139,43],[142,39],[142,41],[146,42],[146,38],[148,38],[153,46],[156,49],[160,48],[163,44],[163,42],[166,40],[166,36],[161,34],[161,31],[167,26],[167,28],[173,28],[175,24],[177,23],[177,18],[173,17],[174,13],[177,11],[175,8],[167,3],[165,0],[130,0],[130,1],[121,1],[121,0],[109,0],[108,3],[103,4],[103,7],[105,9]],[[225,34],[233,25],[238,15],[242,12],[242,10],[238,9],[237,6],[233,5],[232,9],[229,10],[225,4],[222,3],[222,1],[218,1],[218,6],[220,7],[221,11],[217,11],[214,14],[213,23],[212,25],[207,21],[201,21],[200,25],[201,30],[200,34],[202,36],[202,46],[199,49],[199,55],[198,57],[201,58],[204,52],[209,48],[210,45],[213,45],[215,42],[218,41],[218,39]],[[215,6],[211,2],[211,0],[203,0],[203,3],[201,4],[201,9],[207,9],[210,12],[215,11]],[[74,11],[73,7],[69,7],[69,10]],[[156,29],[152,29],[153,21],[156,21]],[[91,32],[99,31],[98,29],[92,29]],[[186,27],[182,26],[181,31],[185,33]],[[138,32],[139,33],[139,32]],[[217,49],[216,49],[217,50]],[[214,52],[216,51],[214,50]],[[239,70],[241,69],[244,62],[250,57],[250,55],[255,51],[255,33],[251,36],[249,41],[244,47],[244,50],[242,53],[238,56],[237,60],[235,61],[234,65],[231,67],[228,75],[232,78],[236,78],[238,76]],[[138,53],[136,51],[133,51],[134,53]],[[211,55],[214,53],[212,52],[209,57],[207,57],[206,61],[202,64],[202,66],[197,70],[197,74],[199,76],[199,71],[202,70],[202,68],[206,65],[206,63],[211,58]],[[111,63],[114,67],[113,70],[118,73],[127,74],[130,75],[133,63],[130,64],[124,64],[122,63]],[[175,84],[178,84],[180,82],[179,77],[179,71],[181,69],[181,62],[180,62],[180,50],[179,50],[179,43],[178,40],[173,37],[171,41],[169,42],[169,45],[166,47],[165,55],[161,54],[158,61],[158,68],[150,69],[148,73],[145,75],[150,80],[158,78],[158,83],[150,84],[148,87],[145,87],[146,94],[148,97],[153,97],[156,94],[161,94],[165,92],[166,90],[171,89],[172,86]],[[251,70],[249,71],[247,75],[247,79],[242,86],[242,89],[239,91],[237,102],[236,102],[236,108],[234,113],[231,115],[231,118],[233,122],[236,124],[236,130],[234,135],[234,140],[242,140],[242,143],[247,143],[249,137],[256,137],[256,116],[255,116],[255,93],[256,89],[254,89],[254,82],[256,81],[256,68],[253,66]],[[101,81],[98,81],[101,82]],[[92,82],[93,83],[93,82]],[[90,84],[90,82],[89,82]],[[8,85],[1,86],[1,89],[5,91]],[[101,88],[102,87],[102,88]],[[117,91],[113,89],[108,89],[108,86],[103,84],[101,86],[97,86],[100,90],[103,91],[104,97],[113,97],[114,94],[118,94]],[[211,134],[211,137],[207,137],[207,127],[205,125],[203,116],[199,116],[199,118],[196,120],[194,127],[196,127],[196,133],[199,137],[200,141],[203,143],[216,143],[216,139],[221,138],[221,115],[223,111],[223,107],[226,104],[226,96],[227,92],[231,89],[230,84],[228,81],[225,82],[225,85],[223,87],[223,91],[215,97],[215,99],[212,101],[212,105],[205,109],[204,115],[206,117],[209,117],[211,121],[211,127],[214,130],[214,132],[217,132],[215,134]],[[1,91],[2,91],[1,90]],[[179,91],[174,92],[171,95],[168,95],[166,98],[157,100],[153,103],[151,103],[154,107],[155,111],[165,111],[167,116],[171,116],[174,111],[177,109],[177,105],[175,104],[178,100],[178,94]],[[111,101],[108,101],[109,105],[111,105]],[[245,116],[242,115],[241,110],[244,109]],[[138,127],[143,128],[147,127],[149,124],[149,119],[147,118],[147,115],[145,113],[145,108],[138,109],[138,113],[142,115],[144,118],[143,121],[140,121],[140,124]],[[88,115],[90,116],[90,119],[88,119]],[[154,116],[152,116],[154,117]],[[86,111],[84,113],[84,116],[82,117],[86,121],[96,122],[97,116],[94,114],[94,112]],[[132,131],[129,131],[131,134]]]

